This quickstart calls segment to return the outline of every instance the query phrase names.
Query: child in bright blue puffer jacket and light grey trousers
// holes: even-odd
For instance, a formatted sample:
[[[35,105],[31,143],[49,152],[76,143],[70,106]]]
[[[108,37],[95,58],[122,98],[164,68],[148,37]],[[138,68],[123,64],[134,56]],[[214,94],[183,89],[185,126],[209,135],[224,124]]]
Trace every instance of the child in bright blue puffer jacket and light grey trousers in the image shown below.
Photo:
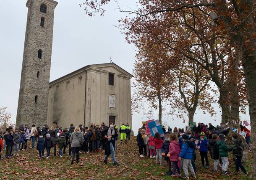
[[[182,139],[183,139],[183,144],[182,144],[179,160],[182,160],[183,171],[185,174],[185,177],[183,177],[183,179],[189,180],[188,169],[190,170],[192,177],[196,178],[195,171],[191,164],[193,148],[195,148],[195,143],[188,140],[188,134],[183,134]]]

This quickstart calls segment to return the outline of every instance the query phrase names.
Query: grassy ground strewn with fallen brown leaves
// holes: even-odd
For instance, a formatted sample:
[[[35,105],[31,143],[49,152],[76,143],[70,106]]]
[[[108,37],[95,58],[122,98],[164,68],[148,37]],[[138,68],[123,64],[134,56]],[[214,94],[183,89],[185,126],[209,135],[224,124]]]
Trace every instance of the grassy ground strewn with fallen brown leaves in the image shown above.
[[[45,180],[174,180],[179,178],[172,178],[165,176],[167,171],[167,163],[164,165],[156,165],[155,159],[148,157],[140,158],[138,156],[138,147],[136,145],[136,138],[132,139],[127,144],[120,145],[118,142],[118,150],[115,152],[116,159],[120,166],[112,164],[111,156],[109,163],[103,164],[104,152],[81,154],[79,163],[71,165],[71,158],[67,154],[63,157],[54,157],[53,149],[49,159],[39,159],[38,151],[27,149],[21,151],[19,156],[4,158],[0,160],[0,180],[27,180],[27,179],[45,179]],[[30,144],[28,145],[28,147]],[[57,149],[58,152],[58,149]],[[44,151],[46,153],[46,150]],[[5,151],[2,151],[2,156]],[[230,153],[231,155],[231,153]],[[196,179],[198,180],[247,180],[247,176],[235,175],[235,165],[230,156],[229,171],[231,175],[223,175],[221,172],[213,173],[213,162],[209,158],[210,169],[201,168],[201,158],[197,155],[196,165],[198,173]],[[248,162],[244,163],[246,170],[251,172],[252,155],[249,154]],[[191,178],[194,179],[194,178]]]

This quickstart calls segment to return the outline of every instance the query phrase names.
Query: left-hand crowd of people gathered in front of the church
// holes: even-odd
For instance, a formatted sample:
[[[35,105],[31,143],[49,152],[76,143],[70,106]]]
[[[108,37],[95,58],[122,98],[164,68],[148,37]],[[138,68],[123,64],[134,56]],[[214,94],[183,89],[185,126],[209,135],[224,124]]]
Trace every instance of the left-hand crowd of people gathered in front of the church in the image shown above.
[[[122,124],[119,129],[121,143],[123,140],[127,143],[130,140],[131,127],[129,124]],[[13,127],[6,128],[5,132],[0,132],[0,159],[1,151],[5,150],[5,157],[19,155],[19,151],[26,151],[28,141],[31,141],[31,149],[37,149],[39,158],[50,158],[50,150],[53,148],[53,155],[57,155],[57,147],[59,149],[58,156],[63,157],[68,148],[68,155],[72,157],[71,165],[73,165],[76,156],[76,162],[79,161],[80,153],[104,152],[103,162],[107,164],[107,157],[112,155],[114,165],[119,165],[115,159],[115,150],[118,149],[118,127],[114,123],[110,123],[107,127],[104,122],[99,125],[92,123],[90,127],[82,124],[74,127],[73,124],[69,128],[58,127],[52,124],[49,128],[44,125],[42,129],[32,125],[31,129],[27,125],[21,124],[18,129]],[[37,141],[37,145],[36,145]],[[46,155],[44,151],[46,149]],[[101,150],[100,150],[101,149]]]

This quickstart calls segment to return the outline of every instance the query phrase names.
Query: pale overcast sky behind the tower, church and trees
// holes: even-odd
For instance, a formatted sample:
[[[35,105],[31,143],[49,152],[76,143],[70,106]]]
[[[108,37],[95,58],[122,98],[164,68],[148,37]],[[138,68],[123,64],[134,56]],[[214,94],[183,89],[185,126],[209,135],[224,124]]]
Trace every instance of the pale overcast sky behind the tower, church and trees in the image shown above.
[[[132,73],[135,61],[135,47],[126,43],[125,36],[114,25],[126,14],[120,13],[112,1],[106,6],[104,17],[89,17],[84,8],[78,4],[83,0],[57,0],[55,8],[52,63],[50,81],[75,71],[88,64],[108,63],[110,56],[113,62]],[[122,8],[136,7],[136,0],[120,1]],[[0,11],[0,106],[8,107],[13,122],[16,121],[18,93],[21,78],[21,65],[24,49],[27,8],[26,0],[8,0],[1,2]],[[218,104],[214,107],[217,109]],[[157,112],[152,119],[157,118]],[[249,119],[248,113],[241,115]],[[133,130],[141,127],[141,121],[147,120],[140,114],[133,114]],[[172,127],[185,127],[180,119],[171,116],[163,117]],[[220,112],[217,117],[210,117],[200,111],[196,112],[195,122],[217,125],[221,122]]]

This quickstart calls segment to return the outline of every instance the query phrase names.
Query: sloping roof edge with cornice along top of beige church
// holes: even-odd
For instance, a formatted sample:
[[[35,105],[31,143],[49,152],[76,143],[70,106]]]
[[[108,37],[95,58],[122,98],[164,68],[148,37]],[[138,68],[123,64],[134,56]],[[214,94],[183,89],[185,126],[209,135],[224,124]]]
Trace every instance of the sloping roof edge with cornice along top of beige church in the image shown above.
[[[89,68],[97,68],[97,69],[100,70],[100,68],[109,67],[109,66],[112,66],[112,67],[118,69],[119,71],[121,71],[123,74],[125,74],[125,76],[127,76],[127,77],[130,78],[130,79],[133,77],[132,74],[128,73],[128,72],[125,71],[123,68],[121,68],[120,66],[116,65],[115,63],[91,64],[91,65],[87,65],[87,66],[84,66],[84,67],[82,67],[82,68],[79,68],[79,69],[77,69],[76,71],[73,71],[73,72],[71,72],[71,73],[69,73],[69,74],[66,74],[65,76],[62,76],[62,77],[60,77],[60,78],[58,78],[58,79],[55,79],[55,80],[51,81],[51,82],[50,82],[50,86],[51,86],[52,84],[55,84],[55,83],[58,82],[58,81],[62,81],[62,79],[64,80],[64,79],[69,78],[69,77],[71,77],[71,76],[73,76],[73,75],[79,74],[80,72],[84,72],[85,70],[87,70],[87,69],[89,69]]]

